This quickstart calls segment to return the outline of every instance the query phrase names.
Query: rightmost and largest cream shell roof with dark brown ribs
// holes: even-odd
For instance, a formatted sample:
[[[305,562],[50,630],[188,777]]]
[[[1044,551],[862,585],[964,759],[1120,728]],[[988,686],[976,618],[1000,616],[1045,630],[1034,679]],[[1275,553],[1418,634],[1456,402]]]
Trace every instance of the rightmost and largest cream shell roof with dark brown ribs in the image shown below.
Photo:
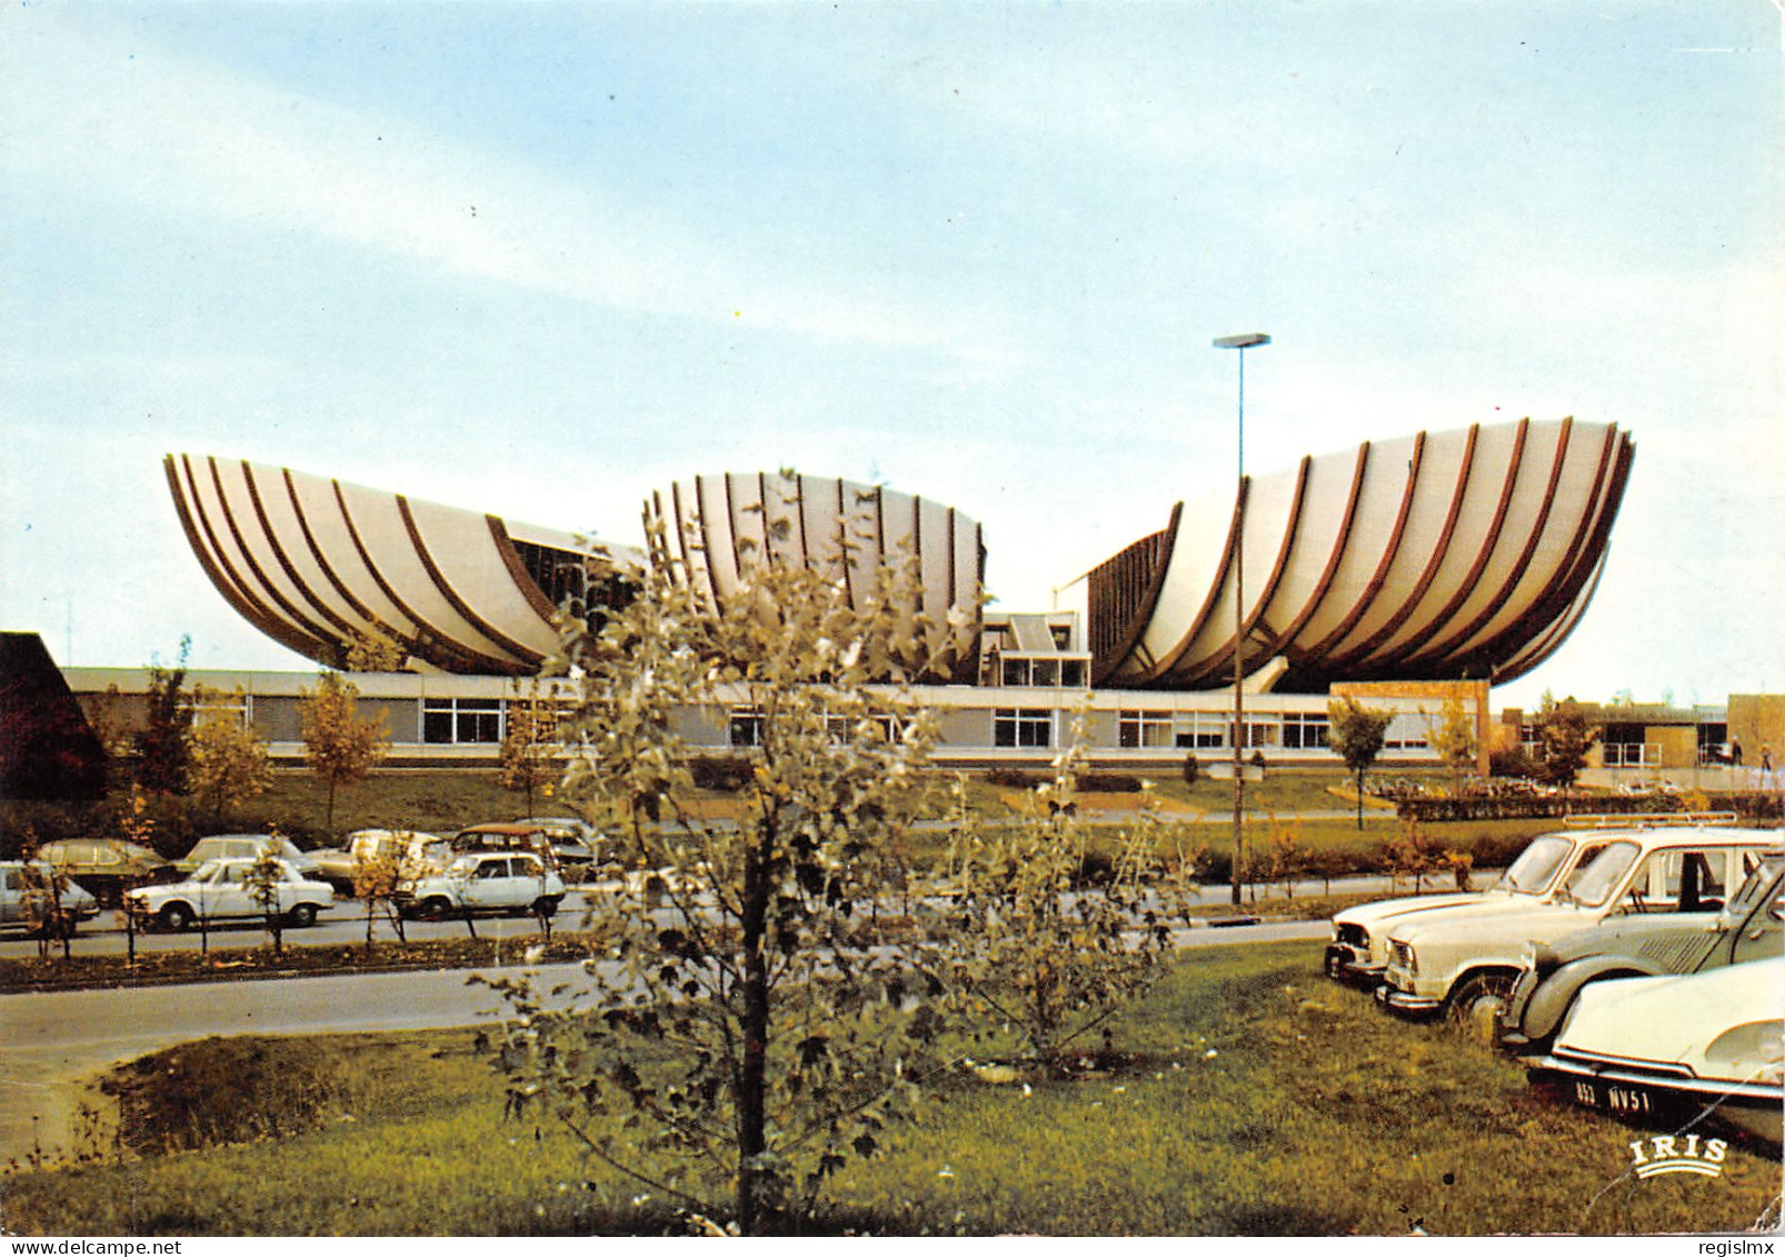
[[[1283,659],[1278,689],[1519,677],[1585,612],[1633,457],[1615,425],[1521,420],[1178,504],[1091,573],[1092,684],[1228,686],[1241,614],[1241,668]]]

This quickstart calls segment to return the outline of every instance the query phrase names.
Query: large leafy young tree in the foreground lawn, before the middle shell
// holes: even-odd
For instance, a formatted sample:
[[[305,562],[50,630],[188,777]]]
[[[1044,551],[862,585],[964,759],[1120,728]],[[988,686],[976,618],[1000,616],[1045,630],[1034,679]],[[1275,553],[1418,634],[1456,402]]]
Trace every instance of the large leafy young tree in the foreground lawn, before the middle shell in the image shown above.
[[[921,977],[939,961],[917,955],[930,945],[882,946],[871,911],[934,730],[869,684],[923,668],[928,625],[903,571],[864,580],[760,552],[714,607],[660,520],[650,534],[637,598],[600,630],[566,630],[585,687],[562,793],[623,816],[653,873],[596,907],[612,959],[591,966],[587,1005],[553,1011],[496,982],[521,1014],[498,1064],[511,1111],[543,1105],[593,1157],[755,1234],[876,1152],[942,1025],[941,987]],[[682,807],[691,752],[671,712],[693,703],[760,721],[737,820]],[[591,1130],[596,1112],[625,1121]]]

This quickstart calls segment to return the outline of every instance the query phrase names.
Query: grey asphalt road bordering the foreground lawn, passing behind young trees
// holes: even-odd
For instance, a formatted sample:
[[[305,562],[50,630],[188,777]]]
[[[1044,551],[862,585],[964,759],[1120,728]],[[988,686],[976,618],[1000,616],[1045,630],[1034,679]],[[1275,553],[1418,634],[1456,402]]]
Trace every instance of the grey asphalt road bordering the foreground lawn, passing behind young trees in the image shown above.
[[[482,927],[480,927],[482,928]],[[1323,939],[1326,921],[1196,928],[1180,946]],[[519,975],[519,966],[478,973]],[[541,989],[585,989],[577,964],[537,970]],[[0,996],[0,1162],[70,1148],[84,1084],[148,1052],[234,1034],[345,1034],[478,1025],[500,1014],[464,970],[212,982],[203,986],[34,991]]]

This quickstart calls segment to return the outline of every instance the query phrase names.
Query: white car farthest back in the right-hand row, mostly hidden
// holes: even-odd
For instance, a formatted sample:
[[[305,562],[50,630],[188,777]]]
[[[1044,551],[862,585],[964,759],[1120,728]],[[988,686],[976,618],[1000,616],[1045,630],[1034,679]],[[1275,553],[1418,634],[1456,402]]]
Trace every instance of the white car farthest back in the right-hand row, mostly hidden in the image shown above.
[[[1389,968],[1389,932],[1394,927],[1437,912],[1515,912],[1532,903],[1544,903],[1610,841],[1606,832],[1585,827],[1542,834],[1533,837],[1485,891],[1414,895],[1348,907],[1333,916],[1333,937],[1326,945],[1326,977],[1373,991],[1382,986],[1382,975]]]

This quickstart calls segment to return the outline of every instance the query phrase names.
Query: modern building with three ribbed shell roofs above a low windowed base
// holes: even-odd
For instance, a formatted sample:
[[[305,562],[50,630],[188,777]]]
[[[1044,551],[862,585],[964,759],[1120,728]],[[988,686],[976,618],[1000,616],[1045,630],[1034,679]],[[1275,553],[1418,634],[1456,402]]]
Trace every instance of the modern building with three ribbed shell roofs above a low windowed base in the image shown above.
[[[910,562],[912,614],[951,661],[917,689],[942,762],[1044,762],[1076,737],[1094,762],[1164,768],[1191,752],[1219,771],[1235,650],[1241,746],[1269,761],[1333,762],[1326,703],[1344,693],[1396,712],[1389,762],[1432,759],[1451,698],[1485,748],[1489,686],[1535,668],[1585,614],[1633,454],[1615,425],[1521,420],[1305,457],[1173,505],[1160,532],[1089,575],[1083,616],[985,612],[975,520],[848,480],[693,477],[644,504],[644,545],[618,545],[253,462],[164,468],[200,568],[250,623],[325,666],[394,643],[402,671],[355,684],[384,707],[398,762],[489,762],[509,703],[566,684],[534,680],[559,618],[623,605],[657,546],[716,607],[760,555],[825,571],[851,602],[885,561]],[[89,703],[116,687],[129,705],[146,684],[134,670],[68,677]],[[195,680],[232,695],[275,753],[300,752],[312,677]],[[716,752],[759,727],[743,696],[680,721]]]

